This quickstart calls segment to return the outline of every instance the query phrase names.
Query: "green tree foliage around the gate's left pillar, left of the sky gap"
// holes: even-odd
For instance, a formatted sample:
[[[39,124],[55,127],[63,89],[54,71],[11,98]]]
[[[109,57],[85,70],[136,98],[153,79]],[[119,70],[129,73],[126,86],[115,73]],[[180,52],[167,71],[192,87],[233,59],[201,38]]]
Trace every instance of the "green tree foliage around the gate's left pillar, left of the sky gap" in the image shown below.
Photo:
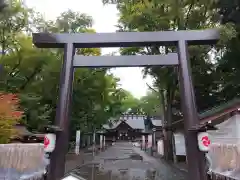
[[[0,91],[18,94],[24,110],[23,122],[32,131],[53,124],[58,102],[61,49],[38,49],[31,32],[91,32],[93,19],[68,10],[54,21],[13,1],[0,15]],[[77,49],[81,55],[101,55],[98,48]],[[109,69],[76,69],[74,72],[71,132],[100,128],[110,117],[123,113],[131,94],[118,86]],[[1,102],[2,104],[2,102]],[[125,106],[125,107],[124,107]]]

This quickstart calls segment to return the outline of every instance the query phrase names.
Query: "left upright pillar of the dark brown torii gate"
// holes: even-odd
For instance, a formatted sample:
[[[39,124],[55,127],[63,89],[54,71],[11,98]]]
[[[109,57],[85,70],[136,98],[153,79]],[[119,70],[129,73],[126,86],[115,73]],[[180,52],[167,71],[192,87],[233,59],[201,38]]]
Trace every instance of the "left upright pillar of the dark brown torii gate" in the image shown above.
[[[64,176],[65,155],[68,150],[69,110],[73,83],[73,44],[65,44],[64,61],[60,77],[60,96],[56,111],[55,125],[61,131],[56,132],[56,147],[50,158],[48,180],[59,180]]]

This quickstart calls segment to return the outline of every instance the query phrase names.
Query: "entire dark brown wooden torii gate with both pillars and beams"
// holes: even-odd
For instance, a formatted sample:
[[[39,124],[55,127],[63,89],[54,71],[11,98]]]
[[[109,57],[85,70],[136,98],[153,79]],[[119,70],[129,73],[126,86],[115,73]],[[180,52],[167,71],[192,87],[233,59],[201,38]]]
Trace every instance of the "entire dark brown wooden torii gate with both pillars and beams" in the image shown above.
[[[64,175],[65,154],[68,145],[69,106],[72,96],[74,68],[79,67],[134,67],[134,66],[179,66],[181,104],[184,116],[185,142],[188,159],[189,180],[205,180],[204,153],[198,149],[197,117],[188,45],[216,44],[219,32],[215,29],[160,32],[117,33],[34,33],[33,42],[39,48],[64,48],[61,71],[59,104],[55,125],[62,131],[57,133],[56,148],[50,160],[48,180],[59,180]],[[80,56],[76,48],[176,46],[178,53],[143,56]]]

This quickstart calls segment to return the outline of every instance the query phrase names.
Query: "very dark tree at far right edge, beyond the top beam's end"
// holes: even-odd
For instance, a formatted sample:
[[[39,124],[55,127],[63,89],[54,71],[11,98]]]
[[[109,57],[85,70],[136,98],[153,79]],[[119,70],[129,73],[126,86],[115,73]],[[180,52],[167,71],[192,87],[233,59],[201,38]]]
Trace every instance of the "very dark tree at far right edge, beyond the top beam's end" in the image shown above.
[[[224,42],[217,57],[216,77],[219,82],[219,101],[225,102],[240,97],[240,2],[220,0],[217,7],[220,9],[221,23],[224,24]]]

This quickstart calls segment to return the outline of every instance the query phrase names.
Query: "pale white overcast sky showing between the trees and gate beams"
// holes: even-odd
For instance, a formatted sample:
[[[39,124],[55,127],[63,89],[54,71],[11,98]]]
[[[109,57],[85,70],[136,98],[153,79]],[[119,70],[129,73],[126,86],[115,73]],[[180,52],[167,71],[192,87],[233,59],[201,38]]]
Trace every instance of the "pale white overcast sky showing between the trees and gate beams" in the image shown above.
[[[93,17],[93,28],[97,32],[115,32],[117,28],[118,11],[115,5],[103,5],[102,0],[24,0],[28,7],[42,13],[46,19],[55,19],[61,12],[71,9],[86,13]],[[114,48],[103,48],[102,54],[117,51]],[[147,92],[147,85],[151,84],[150,77],[142,78],[142,68],[117,68],[112,72],[120,78],[121,87],[140,98]]]

